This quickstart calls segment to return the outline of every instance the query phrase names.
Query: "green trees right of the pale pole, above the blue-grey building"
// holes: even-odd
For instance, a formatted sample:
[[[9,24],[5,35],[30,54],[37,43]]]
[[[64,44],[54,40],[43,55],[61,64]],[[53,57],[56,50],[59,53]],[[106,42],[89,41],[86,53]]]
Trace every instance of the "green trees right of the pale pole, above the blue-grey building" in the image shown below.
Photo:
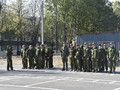
[[[119,12],[114,12],[107,0],[46,0],[45,2],[46,39],[56,37],[56,26],[59,43],[63,41],[65,35],[70,41],[80,33],[118,30],[116,14]],[[64,33],[64,25],[67,33]],[[51,40],[55,41],[55,38]]]

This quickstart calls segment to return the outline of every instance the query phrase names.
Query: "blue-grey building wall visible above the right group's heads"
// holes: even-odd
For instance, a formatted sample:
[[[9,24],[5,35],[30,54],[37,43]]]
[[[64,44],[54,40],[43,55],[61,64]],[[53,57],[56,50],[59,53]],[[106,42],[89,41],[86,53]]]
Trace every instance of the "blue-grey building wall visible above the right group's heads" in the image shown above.
[[[117,50],[120,49],[120,32],[109,33],[89,33],[79,34],[76,36],[76,43],[83,44],[84,42],[93,43],[97,45],[106,44],[109,47],[109,43],[113,42]]]

